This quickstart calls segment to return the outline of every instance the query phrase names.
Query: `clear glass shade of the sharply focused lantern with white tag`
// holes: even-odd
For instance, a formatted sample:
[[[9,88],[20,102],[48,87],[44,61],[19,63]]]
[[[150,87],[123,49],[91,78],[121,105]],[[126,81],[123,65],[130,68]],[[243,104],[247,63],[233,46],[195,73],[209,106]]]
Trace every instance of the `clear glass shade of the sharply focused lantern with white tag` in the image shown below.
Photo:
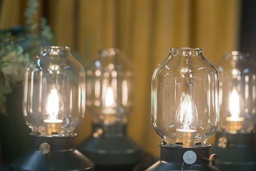
[[[166,145],[205,145],[216,131],[219,78],[202,49],[172,48],[152,76],[152,126]]]

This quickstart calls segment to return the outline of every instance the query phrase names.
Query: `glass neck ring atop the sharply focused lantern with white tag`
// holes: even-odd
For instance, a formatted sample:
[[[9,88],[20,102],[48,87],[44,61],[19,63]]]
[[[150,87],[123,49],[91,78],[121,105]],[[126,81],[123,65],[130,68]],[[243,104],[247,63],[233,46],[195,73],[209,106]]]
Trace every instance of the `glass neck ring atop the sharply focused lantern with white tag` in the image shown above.
[[[202,49],[199,48],[171,48],[169,49],[169,54],[171,56],[203,56]]]

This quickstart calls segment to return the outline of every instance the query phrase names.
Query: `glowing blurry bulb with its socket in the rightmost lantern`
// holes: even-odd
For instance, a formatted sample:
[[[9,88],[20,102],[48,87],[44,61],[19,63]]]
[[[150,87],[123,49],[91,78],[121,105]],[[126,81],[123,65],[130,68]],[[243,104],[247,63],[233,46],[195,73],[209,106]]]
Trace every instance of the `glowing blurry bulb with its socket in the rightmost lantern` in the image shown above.
[[[236,89],[232,90],[228,107],[230,117],[226,117],[227,130],[236,133],[237,130],[242,129],[242,121],[244,120],[243,117],[240,117],[239,95]]]

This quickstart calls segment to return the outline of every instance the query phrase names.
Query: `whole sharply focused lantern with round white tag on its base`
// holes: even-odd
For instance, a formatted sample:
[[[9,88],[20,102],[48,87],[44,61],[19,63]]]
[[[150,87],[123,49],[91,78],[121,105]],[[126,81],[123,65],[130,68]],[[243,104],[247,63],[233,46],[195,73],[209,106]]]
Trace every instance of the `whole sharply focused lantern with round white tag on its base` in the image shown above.
[[[219,122],[219,78],[202,49],[172,48],[152,76],[152,126],[160,160],[146,169],[219,170],[208,138]]]

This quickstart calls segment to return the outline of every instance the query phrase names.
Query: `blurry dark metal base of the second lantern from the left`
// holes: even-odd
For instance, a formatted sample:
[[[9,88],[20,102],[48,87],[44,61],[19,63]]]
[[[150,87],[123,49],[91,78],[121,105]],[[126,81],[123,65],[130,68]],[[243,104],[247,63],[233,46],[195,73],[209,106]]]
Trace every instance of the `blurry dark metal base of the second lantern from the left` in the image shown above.
[[[142,159],[142,149],[126,135],[126,124],[93,123],[93,134],[77,150],[95,163],[95,170],[132,170]]]

